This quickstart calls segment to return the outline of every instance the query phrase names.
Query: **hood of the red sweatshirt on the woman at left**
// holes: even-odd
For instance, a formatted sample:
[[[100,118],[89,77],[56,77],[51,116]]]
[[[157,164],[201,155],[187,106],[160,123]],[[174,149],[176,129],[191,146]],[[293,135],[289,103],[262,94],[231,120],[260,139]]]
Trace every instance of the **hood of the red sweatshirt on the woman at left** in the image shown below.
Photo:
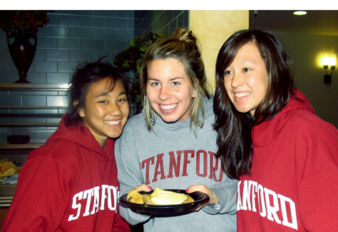
[[[50,143],[57,143],[61,140],[67,140],[73,143],[78,144],[78,146],[82,146],[90,151],[93,151],[93,155],[98,156],[98,158],[106,160],[111,155],[111,152],[106,153],[101,148],[96,138],[93,136],[91,131],[89,131],[87,126],[81,125],[83,127],[83,131],[78,126],[75,127],[67,127],[65,126],[65,118],[66,114],[64,114],[61,118],[60,123],[58,124],[58,129],[51,135],[50,138],[46,141],[46,145]],[[115,141],[113,139],[108,138],[105,150],[113,151]],[[94,154],[95,153],[95,154]]]

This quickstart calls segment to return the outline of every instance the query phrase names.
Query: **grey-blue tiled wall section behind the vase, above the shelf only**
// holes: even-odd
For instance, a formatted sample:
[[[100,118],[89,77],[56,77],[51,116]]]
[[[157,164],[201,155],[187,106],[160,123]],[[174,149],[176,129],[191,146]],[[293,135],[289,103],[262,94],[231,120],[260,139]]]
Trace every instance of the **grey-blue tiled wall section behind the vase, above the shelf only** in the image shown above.
[[[134,11],[54,11],[48,18],[38,31],[31,83],[66,84],[78,62],[116,54],[134,36]],[[0,31],[0,82],[13,83],[19,76]]]

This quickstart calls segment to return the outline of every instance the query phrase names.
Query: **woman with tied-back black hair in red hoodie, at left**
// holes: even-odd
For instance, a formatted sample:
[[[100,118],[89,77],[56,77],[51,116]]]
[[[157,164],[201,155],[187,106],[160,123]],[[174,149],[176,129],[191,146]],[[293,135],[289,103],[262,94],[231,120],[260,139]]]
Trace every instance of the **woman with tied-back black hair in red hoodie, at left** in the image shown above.
[[[78,66],[69,113],[31,152],[1,231],[130,231],[118,212],[115,140],[131,84],[110,64]]]

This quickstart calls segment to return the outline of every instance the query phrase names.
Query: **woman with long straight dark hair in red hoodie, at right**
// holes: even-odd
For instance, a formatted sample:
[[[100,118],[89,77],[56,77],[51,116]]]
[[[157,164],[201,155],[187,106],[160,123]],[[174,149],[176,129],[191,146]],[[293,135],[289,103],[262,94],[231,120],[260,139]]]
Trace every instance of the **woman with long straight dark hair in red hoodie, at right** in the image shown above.
[[[238,179],[238,231],[337,230],[338,131],[295,89],[277,37],[238,31],[219,51],[217,156]]]

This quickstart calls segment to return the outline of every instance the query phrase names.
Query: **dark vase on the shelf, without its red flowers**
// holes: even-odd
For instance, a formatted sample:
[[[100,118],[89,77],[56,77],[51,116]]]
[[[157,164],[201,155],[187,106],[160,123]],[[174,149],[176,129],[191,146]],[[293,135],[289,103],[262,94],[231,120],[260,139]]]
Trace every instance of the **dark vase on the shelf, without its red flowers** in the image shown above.
[[[14,42],[9,43],[9,38],[14,37]],[[35,40],[34,45],[29,42],[29,38]],[[27,71],[31,67],[31,62],[34,59],[36,51],[36,34],[33,36],[20,35],[20,34],[11,34],[7,32],[7,44],[9,46],[9,53],[11,54],[11,59],[13,60],[16,69],[19,71],[20,79],[15,81],[15,83],[30,83],[26,80]]]

